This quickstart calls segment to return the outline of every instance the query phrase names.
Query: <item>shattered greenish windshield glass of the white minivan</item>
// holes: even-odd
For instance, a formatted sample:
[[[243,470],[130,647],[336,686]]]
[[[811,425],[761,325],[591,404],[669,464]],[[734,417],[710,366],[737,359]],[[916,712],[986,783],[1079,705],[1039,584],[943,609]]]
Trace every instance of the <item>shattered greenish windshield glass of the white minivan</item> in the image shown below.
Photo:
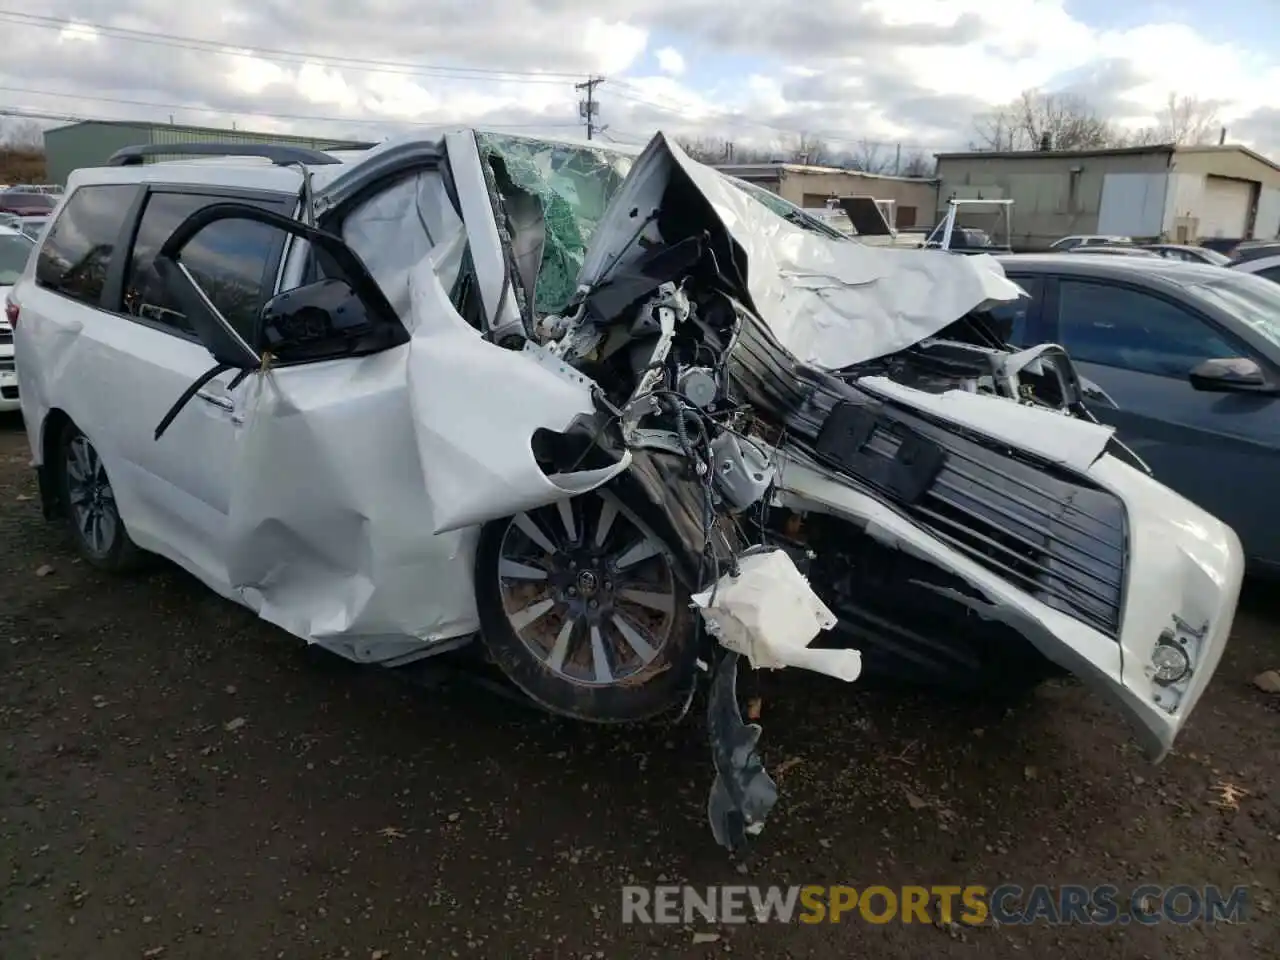
[[[543,252],[534,293],[540,315],[558,314],[577,288],[586,244],[631,169],[617,151],[532,137],[476,133],[480,156],[504,201],[532,196],[543,214]],[[521,218],[527,224],[527,218]],[[529,229],[507,216],[508,230]]]

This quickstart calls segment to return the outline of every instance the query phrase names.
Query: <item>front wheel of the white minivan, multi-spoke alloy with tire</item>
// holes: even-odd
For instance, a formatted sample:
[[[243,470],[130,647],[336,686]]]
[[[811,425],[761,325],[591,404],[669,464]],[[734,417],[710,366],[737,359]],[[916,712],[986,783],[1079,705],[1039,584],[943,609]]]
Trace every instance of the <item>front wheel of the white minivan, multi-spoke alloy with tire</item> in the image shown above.
[[[498,668],[554,713],[649,719],[692,686],[689,594],[662,540],[609,490],[488,524],[476,599]]]

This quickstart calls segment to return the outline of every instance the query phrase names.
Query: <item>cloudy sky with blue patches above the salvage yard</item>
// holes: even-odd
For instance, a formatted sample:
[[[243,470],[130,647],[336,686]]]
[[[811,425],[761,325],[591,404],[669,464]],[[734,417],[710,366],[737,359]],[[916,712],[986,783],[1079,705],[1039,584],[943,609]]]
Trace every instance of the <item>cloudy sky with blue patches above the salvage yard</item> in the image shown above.
[[[1280,155],[1275,0],[0,0],[0,104],[31,114],[567,133],[575,81],[598,73],[625,142],[963,150],[975,113],[1028,87],[1133,125],[1176,91]]]

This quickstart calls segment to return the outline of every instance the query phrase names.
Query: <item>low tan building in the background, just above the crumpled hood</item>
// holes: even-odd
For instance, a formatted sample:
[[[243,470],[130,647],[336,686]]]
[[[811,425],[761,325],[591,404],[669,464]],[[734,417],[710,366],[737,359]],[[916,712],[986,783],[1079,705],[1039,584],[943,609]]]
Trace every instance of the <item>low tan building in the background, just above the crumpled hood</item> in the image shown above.
[[[937,180],[888,177],[809,164],[719,164],[717,170],[777,193],[796,206],[818,209],[835,197],[892,201],[896,227],[928,227],[937,205]]]

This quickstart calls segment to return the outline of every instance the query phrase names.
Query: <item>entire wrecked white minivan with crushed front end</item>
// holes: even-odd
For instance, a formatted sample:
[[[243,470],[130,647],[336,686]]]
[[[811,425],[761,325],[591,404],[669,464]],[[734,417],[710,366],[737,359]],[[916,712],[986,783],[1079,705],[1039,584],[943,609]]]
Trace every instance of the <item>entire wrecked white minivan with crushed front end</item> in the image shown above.
[[[730,847],[776,800],[740,657],[1074,672],[1170,748],[1235,534],[1152,480],[989,257],[870,247],[657,136],[447,132],[77,172],[8,315],[46,516],[388,667],[479,641],[549,710],[710,673]],[[227,156],[232,154],[234,156]]]

